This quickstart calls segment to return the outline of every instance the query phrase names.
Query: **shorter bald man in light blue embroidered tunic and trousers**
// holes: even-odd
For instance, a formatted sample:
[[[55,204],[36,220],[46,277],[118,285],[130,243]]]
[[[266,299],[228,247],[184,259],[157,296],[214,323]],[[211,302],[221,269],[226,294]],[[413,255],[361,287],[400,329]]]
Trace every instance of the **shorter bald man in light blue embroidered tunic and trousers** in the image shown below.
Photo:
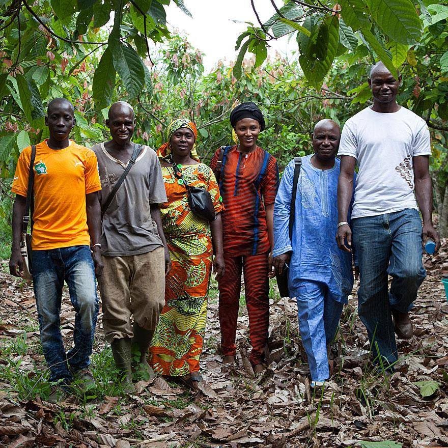
[[[289,214],[294,160],[283,173],[274,205],[272,264],[277,273],[282,273],[285,263],[289,265],[288,288],[290,297],[297,299],[312,386],[330,376],[329,344],[353,288],[352,254],[341,250],[334,239],[340,167],[335,155],[340,138],[341,129],[333,120],[321,120],[314,128],[314,154],[302,157],[292,241]]]

